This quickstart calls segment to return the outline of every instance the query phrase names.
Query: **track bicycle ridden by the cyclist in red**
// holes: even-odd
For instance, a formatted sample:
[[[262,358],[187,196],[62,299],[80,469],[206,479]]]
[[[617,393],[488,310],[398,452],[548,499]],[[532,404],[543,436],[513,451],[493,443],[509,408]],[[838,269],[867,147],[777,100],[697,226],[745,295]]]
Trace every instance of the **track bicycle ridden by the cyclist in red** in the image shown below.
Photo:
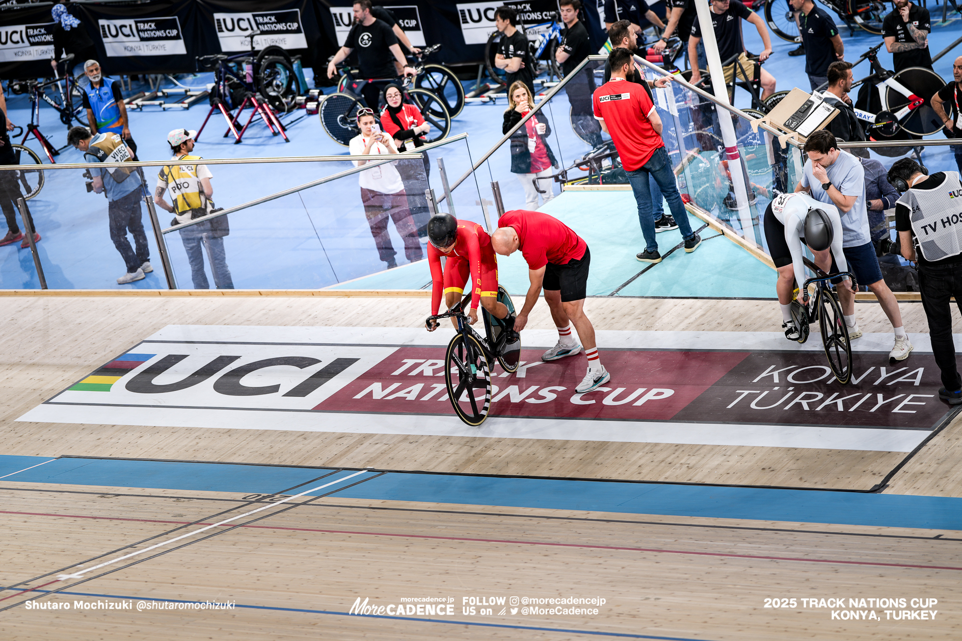
[[[491,408],[494,360],[500,363],[505,372],[517,372],[521,356],[521,337],[514,330],[506,331],[504,322],[494,318],[485,308],[481,308],[485,335],[475,332],[468,325],[469,319],[464,312],[470,299],[471,294],[468,291],[468,295],[460,303],[454,304],[443,314],[428,316],[425,323],[443,318],[457,320],[458,331],[447,344],[444,356],[444,382],[447,384],[448,400],[458,418],[476,428],[485,422]],[[507,306],[509,315],[515,315],[511,297],[500,285],[497,288],[497,300]],[[483,399],[477,396],[481,390],[484,390]]]

